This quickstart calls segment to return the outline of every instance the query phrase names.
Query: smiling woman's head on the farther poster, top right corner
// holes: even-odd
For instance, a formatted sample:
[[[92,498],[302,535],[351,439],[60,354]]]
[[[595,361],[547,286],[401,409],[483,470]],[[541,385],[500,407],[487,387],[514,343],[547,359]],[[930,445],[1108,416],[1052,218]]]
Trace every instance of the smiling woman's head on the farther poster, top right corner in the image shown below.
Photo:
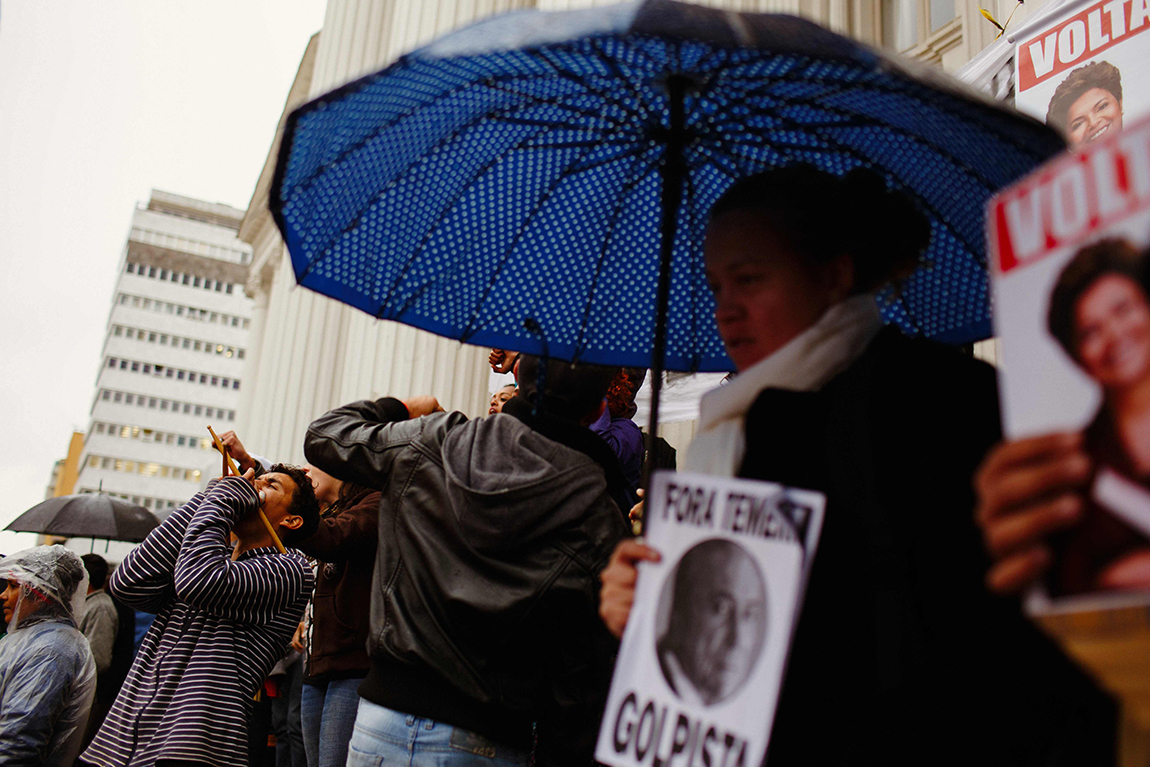
[[[1089,144],[1122,129],[1122,75],[1109,61],[1091,61],[1071,71],[1050,98],[1046,124],[1071,146]]]

